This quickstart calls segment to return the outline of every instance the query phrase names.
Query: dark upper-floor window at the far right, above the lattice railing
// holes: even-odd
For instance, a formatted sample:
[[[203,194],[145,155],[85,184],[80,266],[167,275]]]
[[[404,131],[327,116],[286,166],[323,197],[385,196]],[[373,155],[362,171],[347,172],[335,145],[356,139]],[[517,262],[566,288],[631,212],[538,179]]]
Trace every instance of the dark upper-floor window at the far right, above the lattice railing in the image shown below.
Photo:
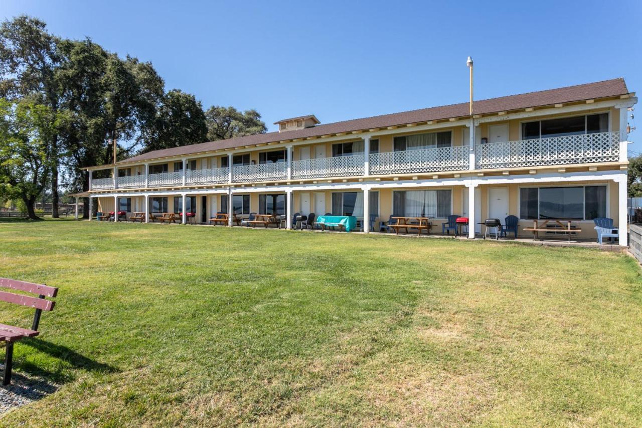
[[[522,123],[522,139],[562,137],[608,131],[608,113]]]

